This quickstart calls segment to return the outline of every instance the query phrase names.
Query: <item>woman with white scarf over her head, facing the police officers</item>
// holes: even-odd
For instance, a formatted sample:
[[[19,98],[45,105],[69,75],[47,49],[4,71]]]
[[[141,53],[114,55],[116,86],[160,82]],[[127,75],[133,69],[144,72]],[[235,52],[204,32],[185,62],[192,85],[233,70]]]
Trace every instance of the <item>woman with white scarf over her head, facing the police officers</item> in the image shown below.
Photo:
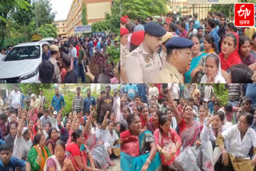
[[[200,83],[226,83],[222,77],[221,61],[217,54],[208,54],[206,56],[205,74]]]

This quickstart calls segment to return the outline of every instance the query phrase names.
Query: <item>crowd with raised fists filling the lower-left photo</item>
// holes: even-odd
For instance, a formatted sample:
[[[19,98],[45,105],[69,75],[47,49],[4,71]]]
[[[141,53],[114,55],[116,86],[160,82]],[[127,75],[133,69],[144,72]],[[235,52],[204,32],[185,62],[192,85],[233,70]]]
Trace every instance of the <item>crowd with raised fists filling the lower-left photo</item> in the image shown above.
[[[65,94],[54,89],[24,96],[17,85],[0,97],[0,170],[107,170],[119,165],[120,91],[106,85],[96,98],[77,87],[72,108]],[[51,102],[50,102],[51,101]]]

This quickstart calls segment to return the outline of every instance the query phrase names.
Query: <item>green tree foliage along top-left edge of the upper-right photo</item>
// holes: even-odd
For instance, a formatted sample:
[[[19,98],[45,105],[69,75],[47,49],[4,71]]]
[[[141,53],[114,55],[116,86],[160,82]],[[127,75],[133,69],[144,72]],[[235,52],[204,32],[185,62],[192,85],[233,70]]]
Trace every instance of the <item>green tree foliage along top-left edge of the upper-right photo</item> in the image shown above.
[[[166,0],[122,0],[121,11],[132,19],[161,16],[167,11]]]

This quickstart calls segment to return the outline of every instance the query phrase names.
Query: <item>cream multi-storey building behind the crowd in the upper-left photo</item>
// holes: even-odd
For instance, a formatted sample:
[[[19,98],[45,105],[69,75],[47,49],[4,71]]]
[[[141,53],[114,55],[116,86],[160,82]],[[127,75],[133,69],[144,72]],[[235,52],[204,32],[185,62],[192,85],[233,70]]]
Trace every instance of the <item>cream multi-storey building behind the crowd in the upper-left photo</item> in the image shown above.
[[[86,19],[88,25],[104,20],[105,14],[110,13],[113,0],[73,0],[66,21],[58,21],[60,25],[64,23],[65,28],[58,28],[58,35],[74,35],[74,26],[82,26],[82,8],[86,7]],[[63,31],[65,30],[65,31]]]

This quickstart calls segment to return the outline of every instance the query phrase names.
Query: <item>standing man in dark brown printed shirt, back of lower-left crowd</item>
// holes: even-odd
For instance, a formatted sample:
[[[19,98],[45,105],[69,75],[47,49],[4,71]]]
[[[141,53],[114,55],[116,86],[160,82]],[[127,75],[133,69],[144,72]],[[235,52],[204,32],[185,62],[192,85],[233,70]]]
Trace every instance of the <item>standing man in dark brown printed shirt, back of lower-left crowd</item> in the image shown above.
[[[104,120],[104,117],[106,115],[106,112],[111,112],[114,98],[110,95],[111,87],[110,85],[106,85],[106,95],[102,96],[99,101],[99,108],[100,108],[100,116],[99,116],[99,123],[102,124],[102,121]]]

